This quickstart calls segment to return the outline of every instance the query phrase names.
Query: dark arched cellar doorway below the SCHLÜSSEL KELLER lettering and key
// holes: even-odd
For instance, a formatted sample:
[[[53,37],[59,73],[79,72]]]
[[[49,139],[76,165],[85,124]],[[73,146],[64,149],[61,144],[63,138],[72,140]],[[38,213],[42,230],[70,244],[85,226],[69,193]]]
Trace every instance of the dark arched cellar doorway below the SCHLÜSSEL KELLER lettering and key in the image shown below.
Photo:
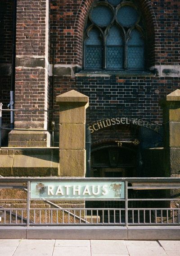
[[[91,150],[91,177],[137,177],[138,149],[134,145],[99,145]]]

